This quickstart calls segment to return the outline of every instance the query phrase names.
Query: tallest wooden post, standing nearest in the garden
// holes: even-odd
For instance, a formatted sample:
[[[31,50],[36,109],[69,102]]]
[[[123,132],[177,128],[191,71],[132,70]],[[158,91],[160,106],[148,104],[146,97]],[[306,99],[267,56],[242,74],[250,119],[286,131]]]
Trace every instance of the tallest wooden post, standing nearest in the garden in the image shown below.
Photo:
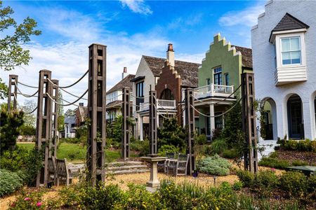
[[[97,181],[105,181],[106,48],[100,44],[89,46],[88,118],[91,125],[86,163],[87,179],[93,186]]]

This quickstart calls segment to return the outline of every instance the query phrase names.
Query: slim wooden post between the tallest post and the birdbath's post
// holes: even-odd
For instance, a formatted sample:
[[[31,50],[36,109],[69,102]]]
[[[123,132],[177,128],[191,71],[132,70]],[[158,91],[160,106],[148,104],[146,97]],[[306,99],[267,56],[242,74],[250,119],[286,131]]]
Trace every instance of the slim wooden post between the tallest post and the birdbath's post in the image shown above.
[[[131,114],[129,87],[124,87],[123,90],[123,104],[121,106],[121,113],[123,116],[122,122],[122,141],[121,141],[121,158],[129,160],[129,143],[131,141],[129,118]]]

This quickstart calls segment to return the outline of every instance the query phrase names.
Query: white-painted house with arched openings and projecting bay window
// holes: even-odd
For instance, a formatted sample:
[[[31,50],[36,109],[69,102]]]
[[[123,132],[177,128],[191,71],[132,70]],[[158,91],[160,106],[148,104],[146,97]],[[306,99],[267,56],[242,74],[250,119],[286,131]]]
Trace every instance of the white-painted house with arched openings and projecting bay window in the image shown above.
[[[268,1],[251,45],[265,140],[316,139],[316,1]]]

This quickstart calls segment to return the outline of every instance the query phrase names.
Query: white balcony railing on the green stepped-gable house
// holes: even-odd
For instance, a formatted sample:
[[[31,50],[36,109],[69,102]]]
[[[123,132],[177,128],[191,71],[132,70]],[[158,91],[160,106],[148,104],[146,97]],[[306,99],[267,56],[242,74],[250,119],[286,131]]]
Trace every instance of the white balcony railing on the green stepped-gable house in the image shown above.
[[[234,92],[233,85],[205,85],[195,88],[195,97],[209,97],[209,96],[229,96]]]

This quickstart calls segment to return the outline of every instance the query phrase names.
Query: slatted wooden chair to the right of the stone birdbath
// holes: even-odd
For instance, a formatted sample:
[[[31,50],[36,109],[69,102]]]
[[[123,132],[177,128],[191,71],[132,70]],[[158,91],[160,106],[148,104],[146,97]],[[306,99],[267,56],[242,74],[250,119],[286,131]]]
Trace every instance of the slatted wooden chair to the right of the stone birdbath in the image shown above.
[[[180,154],[178,155],[177,160],[169,160],[168,162],[168,167],[167,167],[167,174],[169,172],[173,172],[173,175],[178,176],[178,175],[187,175],[187,164],[189,162],[189,155],[183,155]]]

